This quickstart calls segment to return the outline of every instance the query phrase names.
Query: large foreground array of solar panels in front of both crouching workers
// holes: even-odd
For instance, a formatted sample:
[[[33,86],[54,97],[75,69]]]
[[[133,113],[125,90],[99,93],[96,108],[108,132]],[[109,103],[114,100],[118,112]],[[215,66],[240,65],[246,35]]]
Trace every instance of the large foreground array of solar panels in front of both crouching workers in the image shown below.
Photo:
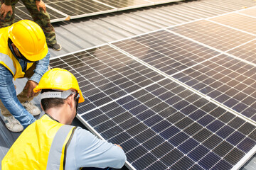
[[[130,169],[239,169],[256,152],[255,9],[50,60],[77,77],[78,118]]]

